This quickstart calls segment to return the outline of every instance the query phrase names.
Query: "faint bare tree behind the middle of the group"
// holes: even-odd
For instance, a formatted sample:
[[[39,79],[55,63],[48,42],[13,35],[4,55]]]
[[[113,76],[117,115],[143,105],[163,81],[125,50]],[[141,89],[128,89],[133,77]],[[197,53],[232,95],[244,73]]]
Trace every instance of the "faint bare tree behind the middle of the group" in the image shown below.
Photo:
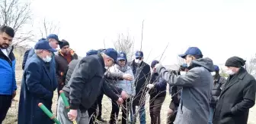
[[[125,52],[128,61],[130,61],[133,57],[134,39],[130,38],[129,33],[127,36],[119,34],[117,41],[114,42],[114,48],[117,51]]]

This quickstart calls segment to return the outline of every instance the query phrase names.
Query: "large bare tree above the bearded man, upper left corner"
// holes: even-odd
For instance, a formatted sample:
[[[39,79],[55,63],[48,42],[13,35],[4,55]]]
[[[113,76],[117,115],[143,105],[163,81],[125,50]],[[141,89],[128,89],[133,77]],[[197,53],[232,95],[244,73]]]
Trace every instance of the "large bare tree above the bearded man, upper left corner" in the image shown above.
[[[32,41],[31,30],[22,29],[31,20],[30,2],[19,0],[0,0],[0,25],[10,26],[14,29],[15,39],[13,45],[20,45],[25,41]]]

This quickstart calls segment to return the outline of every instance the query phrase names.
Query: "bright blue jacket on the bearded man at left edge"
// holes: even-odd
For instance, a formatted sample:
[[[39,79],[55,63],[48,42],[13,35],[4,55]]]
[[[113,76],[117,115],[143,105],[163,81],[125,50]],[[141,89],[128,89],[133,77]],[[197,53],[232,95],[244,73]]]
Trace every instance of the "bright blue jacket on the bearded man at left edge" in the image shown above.
[[[17,89],[15,79],[16,60],[12,53],[13,47],[8,49],[8,57],[0,50],[0,95],[12,95]]]

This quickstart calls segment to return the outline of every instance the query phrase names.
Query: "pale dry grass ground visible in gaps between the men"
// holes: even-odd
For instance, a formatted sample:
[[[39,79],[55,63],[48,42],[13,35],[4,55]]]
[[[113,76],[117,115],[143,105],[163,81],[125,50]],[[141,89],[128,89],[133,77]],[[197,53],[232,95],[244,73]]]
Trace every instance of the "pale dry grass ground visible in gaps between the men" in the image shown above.
[[[8,110],[8,114],[5,118],[5,121],[3,122],[4,124],[16,124],[17,123],[17,118],[18,118],[18,100],[19,100],[19,94],[20,94],[20,86],[21,86],[21,78],[22,78],[22,73],[23,71],[21,70],[21,60],[22,57],[21,55],[16,55],[17,57],[17,70],[16,70],[16,79],[18,82],[18,95],[14,98],[14,101],[12,101],[11,108]],[[57,93],[55,91],[55,95],[53,98],[53,113],[55,114],[56,111],[56,100],[57,100]],[[149,98],[149,97],[147,97]],[[166,114],[167,114],[167,109],[168,105],[171,101],[170,95],[167,95],[165,98],[165,102],[162,105],[162,111],[161,111],[161,116],[162,116],[162,123],[164,124],[166,122]],[[103,102],[102,102],[102,116],[104,119],[109,120],[110,119],[110,110],[111,110],[111,101],[104,96]],[[254,106],[253,108],[250,109],[250,114],[249,114],[249,119],[248,119],[248,124],[256,124],[256,107]],[[137,119],[138,120],[138,119]],[[146,101],[146,122],[150,123],[150,116],[149,116],[149,100]],[[138,123],[138,121],[137,121]]]

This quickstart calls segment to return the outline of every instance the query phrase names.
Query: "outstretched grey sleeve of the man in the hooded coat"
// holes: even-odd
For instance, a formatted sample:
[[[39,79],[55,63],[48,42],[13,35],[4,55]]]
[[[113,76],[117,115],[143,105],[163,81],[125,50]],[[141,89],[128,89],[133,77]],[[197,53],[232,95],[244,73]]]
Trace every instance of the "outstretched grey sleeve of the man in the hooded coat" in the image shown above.
[[[165,79],[170,85],[191,87],[194,85],[194,82],[197,82],[197,80],[200,79],[199,72],[194,69],[189,70],[186,75],[175,76],[168,72],[165,67],[162,67],[162,65],[160,66],[161,67],[158,67],[156,70],[157,73],[159,73],[162,79]]]

